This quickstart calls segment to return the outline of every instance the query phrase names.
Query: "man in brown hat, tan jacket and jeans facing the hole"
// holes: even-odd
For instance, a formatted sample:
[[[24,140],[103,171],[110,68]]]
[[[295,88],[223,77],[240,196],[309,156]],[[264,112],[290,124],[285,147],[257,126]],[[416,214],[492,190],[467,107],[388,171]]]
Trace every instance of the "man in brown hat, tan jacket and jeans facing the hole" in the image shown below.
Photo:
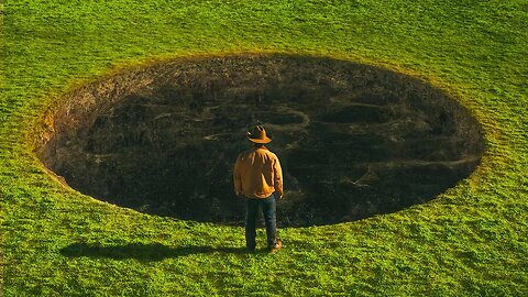
[[[276,199],[283,199],[283,170],[277,155],[264,144],[272,140],[262,125],[248,131],[252,147],[241,153],[233,170],[234,193],[248,200],[245,216],[245,245],[255,250],[256,216],[262,209],[266,223],[267,249],[275,253],[283,246],[277,240]]]

